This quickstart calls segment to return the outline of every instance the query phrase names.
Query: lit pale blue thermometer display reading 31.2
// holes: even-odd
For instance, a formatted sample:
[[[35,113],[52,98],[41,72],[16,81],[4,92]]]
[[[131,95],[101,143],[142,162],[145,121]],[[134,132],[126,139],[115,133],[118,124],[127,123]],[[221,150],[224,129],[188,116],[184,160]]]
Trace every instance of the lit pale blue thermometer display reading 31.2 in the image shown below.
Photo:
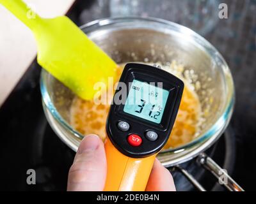
[[[168,96],[169,91],[157,83],[133,80],[124,112],[160,124]]]

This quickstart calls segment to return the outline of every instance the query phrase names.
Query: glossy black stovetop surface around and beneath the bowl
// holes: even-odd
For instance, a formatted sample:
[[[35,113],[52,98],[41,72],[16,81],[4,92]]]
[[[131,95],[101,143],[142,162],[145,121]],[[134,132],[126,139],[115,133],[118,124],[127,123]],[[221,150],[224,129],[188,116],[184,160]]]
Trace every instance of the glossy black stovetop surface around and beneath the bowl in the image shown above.
[[[225,57],[236,85],[236,106],[229,129],[234,138],[232,177],[245,190],[255,190],[256,182],[256,2],[223,1],[228,4],[228,19],[219,20],[211,33],[205,34]],[[77,1],[69,16],[81,25],[87,22],[95,1]],[[104,14],[106,17],[108,13]],[[93,19],[90,19],[93,20]],[[33,62],[0,108],[1,124],[1,184],[0,190],[65,190],[68,168],[74,152],[53,133],[42,110],[39,89],[40,68]],[[214,159],[223,164],[225,137],[209,150]],[[213,153],[212,153],[213,152]],[[215,153],[214,153],[215,152]],[[186,164],[191,173],[197,172]],[[36,185],[26,183],[26,171],[36,170]],[[187,187],[179,173],[173,173],[178,189]],[[209,177],[208,177],[209,176]],[[201,179],[208,189],[214,180],[207,173]],[[212,185],[209,184],[211,180]],[[181,182],[180,182],[181,181]]]

